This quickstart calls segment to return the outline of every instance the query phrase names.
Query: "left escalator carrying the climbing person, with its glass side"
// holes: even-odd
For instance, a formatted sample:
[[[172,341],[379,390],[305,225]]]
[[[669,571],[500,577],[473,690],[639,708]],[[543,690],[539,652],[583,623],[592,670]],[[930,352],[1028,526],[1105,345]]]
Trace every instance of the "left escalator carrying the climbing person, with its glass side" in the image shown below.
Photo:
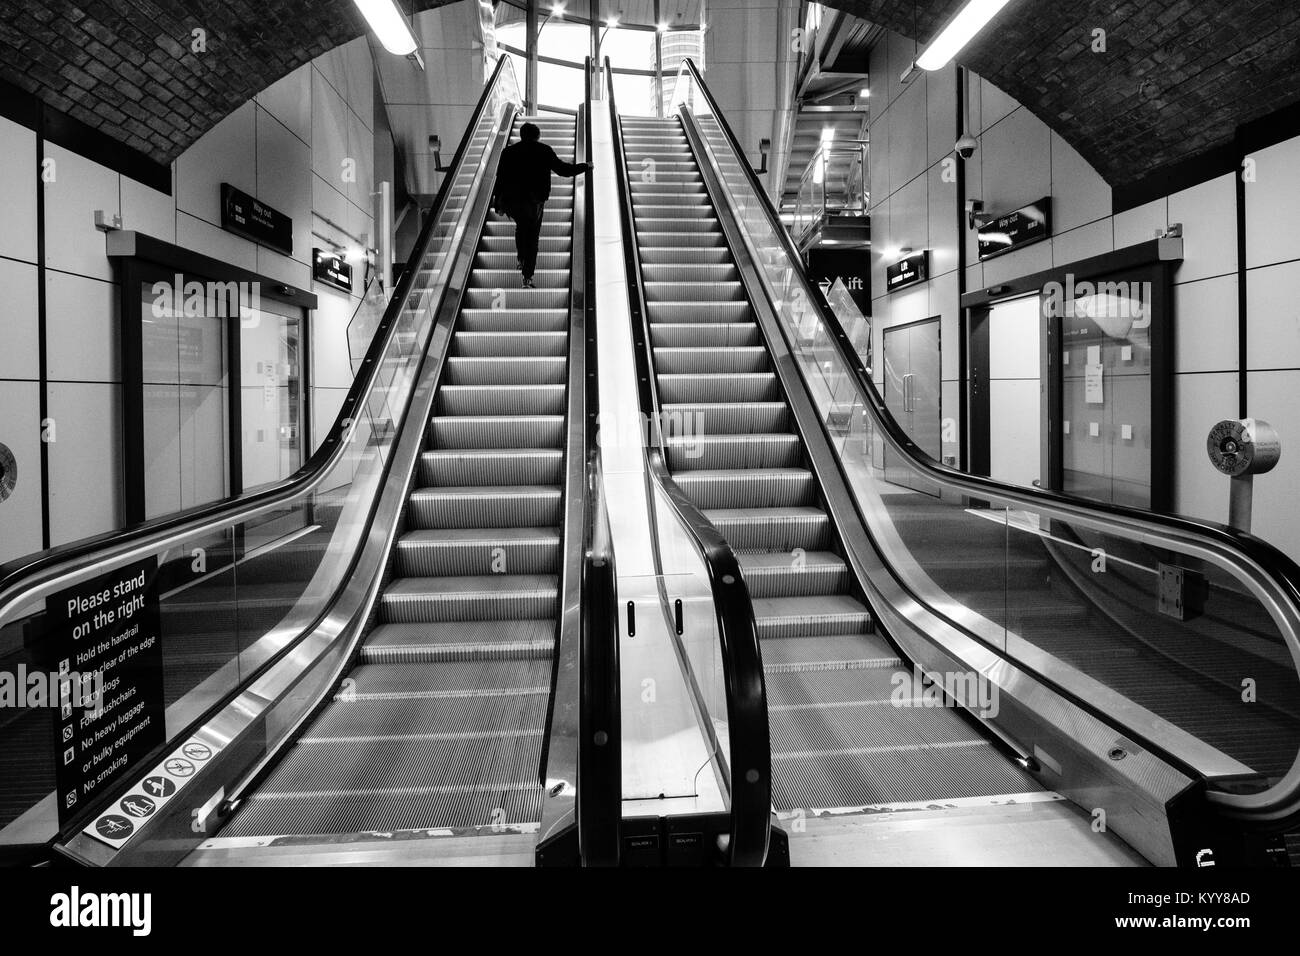
[[[94,792],[60,769],[74,750],[49,711],[35,735],[0,724],[3,766],[27,784],[4,804],[5,858],[618,861],[592,200],[554,190],[524,289],[514,225],[490,211],[520,99],[503,57],[299,472],[0,568],[0,661],[57,666],[62,596],[122,568],[157,615],[114,620],[105,645],[161,645],[157,666],[118,678],[117,698],[142,704],[100,736],[135,747]],[[532,121],[582,161],[586,114]],[[75,706],[88,727],[109,713]]]

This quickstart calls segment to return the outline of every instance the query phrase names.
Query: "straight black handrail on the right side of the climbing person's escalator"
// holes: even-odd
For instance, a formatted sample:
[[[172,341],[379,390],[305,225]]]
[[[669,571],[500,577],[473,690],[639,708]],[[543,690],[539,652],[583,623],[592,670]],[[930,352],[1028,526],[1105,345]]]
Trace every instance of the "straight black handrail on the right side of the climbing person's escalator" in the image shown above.
[[[592,161],[592,57],[584,64],[582,156]],[[586,336],[586,502],[582,540],[582,650],[578,717],[578,852],[584,866],[618,866],[623,823],[623,701],[619,669],[619,598],[610,514],[597,445],[601,415],[595,315],[595,182],[582,177],[582,304]],[[577,239],[577,237],[575,237]]]

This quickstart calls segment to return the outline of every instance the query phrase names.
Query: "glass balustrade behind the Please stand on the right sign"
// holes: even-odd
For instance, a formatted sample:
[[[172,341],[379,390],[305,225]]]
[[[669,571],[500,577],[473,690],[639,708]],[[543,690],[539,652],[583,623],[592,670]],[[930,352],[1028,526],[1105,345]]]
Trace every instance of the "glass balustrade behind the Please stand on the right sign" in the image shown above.
[[[134,739],[124,774],[155,760],[169,741],[183,739],[286,659],[348,587],[448,293],[446,265],[467,238],[468,187],[454,183],[477,173],[493,130],[517,100],[514,70],[503,60],[458,148],[460,174],[439,191],[363,371],[299,472],[254,494],[3,568],[0,661],[29,670],[57,669],[60,658],[68,659],[73,628],[81,627],[56,623],[68,617],[68,594],[94,593],[100,579],[125,570],[133,578],[143,574],[143,588],[133,588],[147,598],[139,624],[156,631],[151,646],[160,648],[160,662],[143,680],[156,679],[161,688],[138,689],[151,704],[155,692],[161,696],[165,711],[152,714],[153,726]],[[155,601],[157,619],[151,622]],[[84,710],[91,719],[92,704],[79,706],[77,718]],[[57,708],[9,711],[0,719],[0,844],[44,844],[75,831],[120,790],[124,774],[101,780],[94,793],[82,791],[75,801],[58,792],[62,774],[56,767],[79,762],[64,758],[64,745],[56,744],[61,721],[66,718]]]

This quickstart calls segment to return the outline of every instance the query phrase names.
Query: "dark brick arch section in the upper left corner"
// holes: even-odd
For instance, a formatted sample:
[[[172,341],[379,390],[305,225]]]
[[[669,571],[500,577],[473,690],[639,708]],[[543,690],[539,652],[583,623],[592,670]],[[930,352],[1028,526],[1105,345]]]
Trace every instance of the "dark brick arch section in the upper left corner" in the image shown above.
[[[0,0],[0,78],[165,164],[364,27],[351,0]]]

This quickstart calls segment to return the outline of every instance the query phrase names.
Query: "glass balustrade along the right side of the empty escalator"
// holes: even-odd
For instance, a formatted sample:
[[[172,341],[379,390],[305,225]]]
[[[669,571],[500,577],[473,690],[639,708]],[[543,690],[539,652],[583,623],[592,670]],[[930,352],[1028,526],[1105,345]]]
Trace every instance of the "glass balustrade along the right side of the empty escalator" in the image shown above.
[[[781,349],[883,559],[864,572],[868,593],[906,596],[1205,779],[1222,812],[1295,814],[1300,568],[1231,528],[1005,485],[936,462],[887,410],[861,342],[809,285],[734,134],[688,68],[706,105],[682,111],[684,121],[725,190]],[[1167,602],[1162,576],[1182,581]],[[1187,604],[1175,606],[1178,596]]]

